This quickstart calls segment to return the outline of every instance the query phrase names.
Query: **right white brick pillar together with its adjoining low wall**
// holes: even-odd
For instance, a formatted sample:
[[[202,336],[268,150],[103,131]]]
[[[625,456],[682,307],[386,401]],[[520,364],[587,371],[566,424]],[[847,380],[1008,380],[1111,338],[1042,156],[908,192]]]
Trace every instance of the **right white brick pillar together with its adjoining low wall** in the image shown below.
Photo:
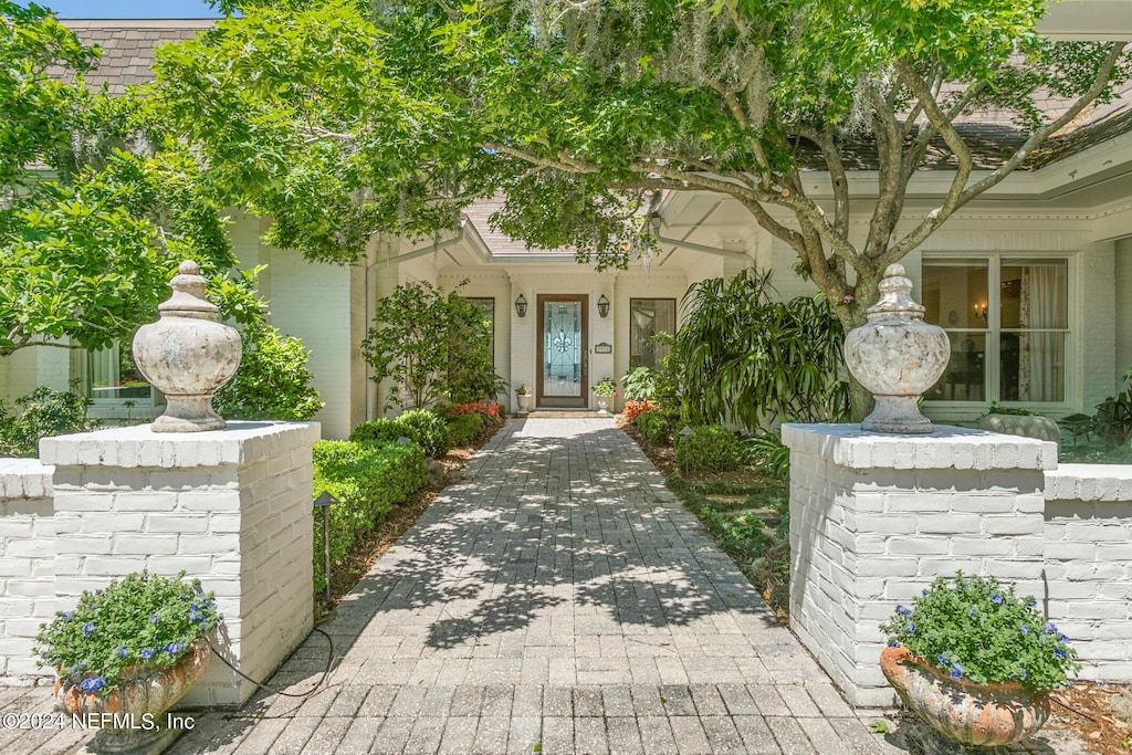
[[[1050,443],[789,424],[791,628],[860,706],[886,705],[880,624],[936,576],[1046,598],[1083,678],[1132,679],[1132,467],[1055,467]]]

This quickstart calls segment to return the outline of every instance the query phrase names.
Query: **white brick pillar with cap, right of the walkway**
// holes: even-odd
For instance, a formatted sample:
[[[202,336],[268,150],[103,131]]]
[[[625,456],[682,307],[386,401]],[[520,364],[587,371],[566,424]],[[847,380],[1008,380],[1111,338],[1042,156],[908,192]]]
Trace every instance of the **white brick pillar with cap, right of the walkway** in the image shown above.
[[[881,435],[786,424],[790,628],[857,706],[893,701],[885,621],[937,576],[995,576],[1041,597],[1053,443],[954,427]]]

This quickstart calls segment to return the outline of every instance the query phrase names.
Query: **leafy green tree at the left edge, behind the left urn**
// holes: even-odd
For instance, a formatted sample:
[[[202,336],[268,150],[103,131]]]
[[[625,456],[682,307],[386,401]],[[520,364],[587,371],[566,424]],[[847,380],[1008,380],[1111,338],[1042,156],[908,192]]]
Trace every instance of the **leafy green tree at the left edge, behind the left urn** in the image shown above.
[[[234,261],[197,160],[147,98],[84,84],[98,54],[50,11],[0,0],[0,357],[126,341],[179,261]],[[241,290],[223,298],[250,317]]]

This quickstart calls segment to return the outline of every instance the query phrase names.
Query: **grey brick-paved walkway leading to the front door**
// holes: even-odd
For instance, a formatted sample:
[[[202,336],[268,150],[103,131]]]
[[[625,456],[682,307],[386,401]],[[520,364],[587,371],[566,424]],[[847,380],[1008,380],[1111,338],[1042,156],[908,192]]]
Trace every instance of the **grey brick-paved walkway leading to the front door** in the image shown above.
[[[610,420],[508,422],[321,628],[342,657],[328,688],[205,714],[170,752],[906,752]],[[326,659],[316,633],[272,684],[309,689]],[[0,695],[48,710],[43,689]],[[79,739],[9,731],[0,748]]]

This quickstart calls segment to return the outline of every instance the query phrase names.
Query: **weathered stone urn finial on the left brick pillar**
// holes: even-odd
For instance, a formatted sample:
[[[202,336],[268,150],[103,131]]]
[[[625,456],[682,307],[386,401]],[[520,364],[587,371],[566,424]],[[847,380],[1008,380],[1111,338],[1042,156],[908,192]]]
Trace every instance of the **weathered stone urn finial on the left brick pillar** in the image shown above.
[[[235,375],[242,349],[235,328],[220,323],[218,308],[204,298],[208,282],[187,260],[169,282],[173,294],[157,306],[161,319],[134,336],[134,361],[169,404],[154,432],[223,429],[212,397]]]

